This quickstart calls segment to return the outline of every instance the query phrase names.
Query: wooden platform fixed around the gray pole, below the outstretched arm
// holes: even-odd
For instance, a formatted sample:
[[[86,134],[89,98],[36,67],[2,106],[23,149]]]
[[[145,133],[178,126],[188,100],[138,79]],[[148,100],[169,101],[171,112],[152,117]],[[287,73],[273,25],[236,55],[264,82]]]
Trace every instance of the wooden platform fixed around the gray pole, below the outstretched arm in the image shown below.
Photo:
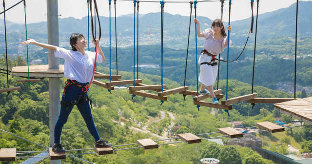
[[[27,77],[27,66],[16,66],[12,68],[12,74]],[[59,65],[59,69],[49,69],[49,65],[30,65],[30,77],[61,78],[64,77],[64,65]]]

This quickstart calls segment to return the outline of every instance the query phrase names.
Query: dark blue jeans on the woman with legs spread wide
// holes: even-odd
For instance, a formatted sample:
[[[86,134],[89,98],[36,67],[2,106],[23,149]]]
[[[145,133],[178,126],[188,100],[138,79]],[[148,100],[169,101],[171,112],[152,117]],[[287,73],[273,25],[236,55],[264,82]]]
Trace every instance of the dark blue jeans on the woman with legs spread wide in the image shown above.
[[[82,93],[82,90],[80,87],[69,85],[65,88],[64,93],[62,95],[62,101],[71,102],[77,100],[78,95]],[[87,96],[87,93],[85,93],[85,96]],[[68,107],[64,107],[61,105],[59,118],[54,126],[54,143],[60,143],[60,134],[62,132],[63,125],[67,122],[68,116],[72,111],[73,107],[74,105]],[[94,139],[98,141],[100,137],[98,135],[97,127],[93,121],[89,102],[79,103],[77,104],[77,107],[79,112],[81,113],[81,116],[84,119],[84,122],[87,124],[89,132],[94,137]]]

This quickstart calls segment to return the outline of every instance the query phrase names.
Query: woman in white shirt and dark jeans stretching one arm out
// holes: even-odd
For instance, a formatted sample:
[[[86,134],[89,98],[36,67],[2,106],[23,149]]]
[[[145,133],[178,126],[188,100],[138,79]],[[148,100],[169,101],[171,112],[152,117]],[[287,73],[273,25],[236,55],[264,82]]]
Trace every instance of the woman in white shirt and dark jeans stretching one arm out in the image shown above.
[[[52,150],[57,153],[66,152],[64,147],[60,144],[60,134],[74,105],[77,105],[79,112],[87,124],[89,132],[95,138],[95,146],[111,147],[111,143],[101,139],[98,135],[98,130],[93,121],[89,98],[87,95],[87,91],[90,86],[89,82],[93,81],[96,53],[84,50],[88,44],[81,34],[73,33],[69,41],[72,46],[71,50],[66,50],[65,48],[60,48],[50,44],[39,43],[33,39],[28,39],[27,41],[22,42],[22,44],[32,43],[40,47],[53,50],[55,51],[55,57],[65,59],[64,77],[67,78],[67,82],[62,95],[59,118],[54,128],[55,141]],[[97,45],[98,49],[96,62],[103,62],[105,60],[105,56],[99,46],[98,39],[94,41],[94,43]]]

